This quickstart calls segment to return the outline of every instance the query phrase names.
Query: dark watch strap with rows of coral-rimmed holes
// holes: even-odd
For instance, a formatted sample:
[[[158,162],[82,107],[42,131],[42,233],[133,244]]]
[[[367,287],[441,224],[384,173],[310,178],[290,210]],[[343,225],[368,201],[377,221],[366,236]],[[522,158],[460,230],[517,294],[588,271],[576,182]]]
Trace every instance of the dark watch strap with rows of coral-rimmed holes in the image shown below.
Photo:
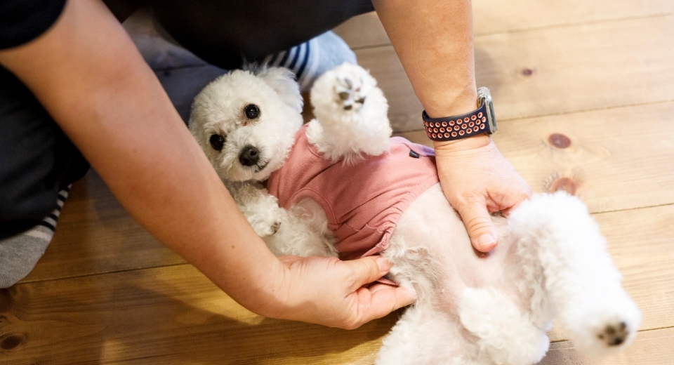
[[[429,118],[424,110],[421,119],[426,135],[431,140],[458,140],[490,132],[487,123],[487,105],[484,103],[473,112],[447,118]]]

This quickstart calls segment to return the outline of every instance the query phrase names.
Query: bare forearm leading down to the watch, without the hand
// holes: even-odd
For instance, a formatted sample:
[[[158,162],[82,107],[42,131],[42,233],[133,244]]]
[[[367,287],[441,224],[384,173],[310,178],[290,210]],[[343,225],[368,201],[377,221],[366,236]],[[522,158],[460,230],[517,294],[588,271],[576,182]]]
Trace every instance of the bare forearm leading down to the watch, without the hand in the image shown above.
[[[477,88],[470,0],[374,0],[373,3],[428,116],[450,117],[475,110]],[[486,145],[489,137],[478,135],[459,141]],[[444,145],[448,142],[435,144],[436,148]]]

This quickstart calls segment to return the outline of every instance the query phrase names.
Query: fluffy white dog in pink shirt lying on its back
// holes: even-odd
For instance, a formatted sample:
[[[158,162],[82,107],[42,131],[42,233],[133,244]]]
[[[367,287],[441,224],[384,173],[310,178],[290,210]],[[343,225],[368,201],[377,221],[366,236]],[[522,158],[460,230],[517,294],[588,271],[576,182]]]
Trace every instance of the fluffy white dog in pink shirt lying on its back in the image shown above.
[[[316,119],[303,127],[290,72],[234,71],[197,95],[190,130],[275,254],[355,258],[381,251],[393,264],[388,278],[417,291],[416,303],[384,338],[377,364],[534,364],[548,350],[546,331],[555,318],[589,354],[616,352],[633,340],[641,314],[579,199],[541,194],[507,220],[494,217],[501,237],[487,257],[473,251],[437,176],[418,178],[407,188],[418,191],[402,194],[385,214],[364,208],[371,215],[358,218],[360,203],[353,202],[377,194],[361,191],[397,185],[407,167],[395,166],[426,168],[432,151],[390,139],[388,104],[359,66],[324,74],[311,102]],[[312,180],[332,168],[350,170]],[[382,183],[386,177],[376,172],[392,169],[403,178]],[[327,192],[319,191],[322,185]],[[374,247],[359,245],[367,241],[362,234],[378,234]]]

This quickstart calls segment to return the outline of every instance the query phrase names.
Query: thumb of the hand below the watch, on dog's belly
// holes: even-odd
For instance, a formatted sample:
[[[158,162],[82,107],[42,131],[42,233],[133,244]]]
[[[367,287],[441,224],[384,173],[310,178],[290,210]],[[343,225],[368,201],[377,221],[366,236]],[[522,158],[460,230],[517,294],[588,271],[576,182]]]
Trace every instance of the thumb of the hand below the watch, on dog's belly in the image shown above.
[[[480,252],[489,252],[498,244],[498,233],[491,222],[487,207],[472,203],[457,209],[463,224],[468,230],[470,243]]]

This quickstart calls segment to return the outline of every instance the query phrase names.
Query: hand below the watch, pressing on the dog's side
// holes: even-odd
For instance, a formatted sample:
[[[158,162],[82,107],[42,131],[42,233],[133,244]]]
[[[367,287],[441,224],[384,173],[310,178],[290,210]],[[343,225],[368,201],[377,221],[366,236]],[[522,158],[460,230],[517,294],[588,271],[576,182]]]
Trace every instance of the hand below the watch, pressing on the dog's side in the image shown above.
[[[490,213],[508,213],[531,188],[487,135],[435,142],[435,155],[442,190],[461,215],[470,242],[477,251],[491,251],[498,232]]]

